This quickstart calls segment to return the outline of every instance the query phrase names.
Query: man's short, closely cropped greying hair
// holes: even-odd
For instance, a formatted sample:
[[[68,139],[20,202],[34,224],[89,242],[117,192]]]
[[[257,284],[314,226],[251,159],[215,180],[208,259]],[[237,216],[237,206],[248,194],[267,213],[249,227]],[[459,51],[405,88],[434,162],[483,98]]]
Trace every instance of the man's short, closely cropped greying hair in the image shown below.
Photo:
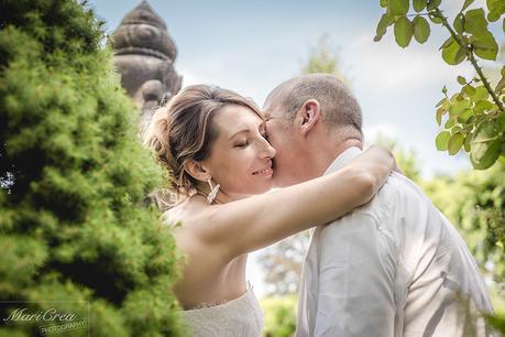
[[[301,75],[277,86],[266,98],[276,100],[292,122],[304,102],[316,99],[321,107],[325,124],[330,129],[359,131],[362,137],[363,117],[358,100],[349,88],[336,76],[329,74]]]

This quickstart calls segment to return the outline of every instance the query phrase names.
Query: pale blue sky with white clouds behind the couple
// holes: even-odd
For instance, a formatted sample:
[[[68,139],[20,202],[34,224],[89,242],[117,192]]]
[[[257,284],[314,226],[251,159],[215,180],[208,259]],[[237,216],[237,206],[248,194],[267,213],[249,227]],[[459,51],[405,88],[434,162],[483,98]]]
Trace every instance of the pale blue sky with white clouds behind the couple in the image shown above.
[[[140,1],[89,3],[111,33]],[[272,88],[299,73],[310,47],[326,33],[361,104],[367,140],[381,132],[405,149],[414,149],[426,177],[470,167],[465,153],[449,156],[435,148],[439,131],[435,105],[442,97],[441,88],[447,85],[449,93],[453,93],[459,87],[458,75],[473,75],[466,64],[454,67],[443,63],[438,47],[447,33],[439,26],[432,28],[428,43],[413,42],[402,50],[394,43],[391,30],[381,42],[373,42],[383,12],[378,0],[149,3],[165,20],[177,45],[175,67],[184,76],[183,86],[216,84],[262,106]],[[452,18],[461,3],[462,0],[443,1]],[[483,0],[475,6],[482,4]],[[499,31],[497,26],[493,26],[494,32]],[[256,272],[253,264],[250,275],[259,279]],[[253,282],[262,293],[260,280]]]

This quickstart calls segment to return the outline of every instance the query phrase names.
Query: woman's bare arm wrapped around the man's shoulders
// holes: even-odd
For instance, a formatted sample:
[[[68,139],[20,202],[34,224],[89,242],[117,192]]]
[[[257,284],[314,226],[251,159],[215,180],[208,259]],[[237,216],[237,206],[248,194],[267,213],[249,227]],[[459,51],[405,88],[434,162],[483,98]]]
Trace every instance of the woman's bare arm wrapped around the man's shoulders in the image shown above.
[[[211,206],[200,239],[230,260],[367,203],[395,167],[391,152],[372,148],[333,174],[273,193]]]

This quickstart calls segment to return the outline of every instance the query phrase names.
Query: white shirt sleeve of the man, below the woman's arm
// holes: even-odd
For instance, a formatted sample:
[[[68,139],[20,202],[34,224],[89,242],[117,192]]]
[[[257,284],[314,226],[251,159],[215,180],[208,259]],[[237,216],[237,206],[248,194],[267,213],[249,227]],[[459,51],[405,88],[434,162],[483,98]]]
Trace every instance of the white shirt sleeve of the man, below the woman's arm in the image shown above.
[[[333,221],[318,249],[314,336],[394,336],[396,248],[377,219],[356,211]]]

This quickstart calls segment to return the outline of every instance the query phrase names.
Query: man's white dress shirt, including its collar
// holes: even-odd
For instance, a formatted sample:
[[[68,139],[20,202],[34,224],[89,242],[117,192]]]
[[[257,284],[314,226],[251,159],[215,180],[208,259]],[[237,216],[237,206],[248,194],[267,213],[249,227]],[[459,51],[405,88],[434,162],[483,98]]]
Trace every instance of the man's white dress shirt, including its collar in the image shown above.
[[[348,149],[326,174],[360,153]],[[462,336],[464,324],[469,336],[488,336],[475,307],[493,312],[464,241],[419,187],[393,173],[369,204],[316,228],[296,337]]]

